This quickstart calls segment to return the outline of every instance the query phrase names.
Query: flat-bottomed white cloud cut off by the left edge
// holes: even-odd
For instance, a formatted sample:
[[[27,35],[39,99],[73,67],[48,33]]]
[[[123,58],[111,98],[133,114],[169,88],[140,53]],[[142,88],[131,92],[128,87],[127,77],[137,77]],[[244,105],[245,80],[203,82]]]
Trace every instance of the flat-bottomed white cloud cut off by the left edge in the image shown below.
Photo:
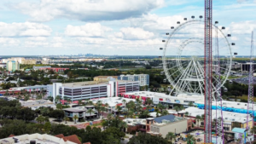
[[[47,37],[51,32],[51,28],[44,24],[0,22],[0,37]]]

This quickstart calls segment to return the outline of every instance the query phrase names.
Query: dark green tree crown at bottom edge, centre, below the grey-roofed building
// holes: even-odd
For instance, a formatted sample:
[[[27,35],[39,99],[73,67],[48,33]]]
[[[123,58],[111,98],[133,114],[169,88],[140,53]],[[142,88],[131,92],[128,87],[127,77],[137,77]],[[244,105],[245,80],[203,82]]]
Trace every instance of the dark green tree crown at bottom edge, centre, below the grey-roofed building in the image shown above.
[[[147,133],[139,132],[137,136],[131,137],[130,141],[127,144],[171,144],[172,142],[164,139],[160,135],[150,135]]]

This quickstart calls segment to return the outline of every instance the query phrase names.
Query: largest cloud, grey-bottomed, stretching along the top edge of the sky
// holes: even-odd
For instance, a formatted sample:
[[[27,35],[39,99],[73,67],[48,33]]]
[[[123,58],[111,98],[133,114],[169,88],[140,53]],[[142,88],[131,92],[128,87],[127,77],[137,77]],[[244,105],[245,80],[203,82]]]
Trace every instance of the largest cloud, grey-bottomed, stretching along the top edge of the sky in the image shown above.
[[[148,14],[163,6],[164,0],[41,0],[40,3],[12,3],[10,8],[29,14],[32,20],[123,20]]]

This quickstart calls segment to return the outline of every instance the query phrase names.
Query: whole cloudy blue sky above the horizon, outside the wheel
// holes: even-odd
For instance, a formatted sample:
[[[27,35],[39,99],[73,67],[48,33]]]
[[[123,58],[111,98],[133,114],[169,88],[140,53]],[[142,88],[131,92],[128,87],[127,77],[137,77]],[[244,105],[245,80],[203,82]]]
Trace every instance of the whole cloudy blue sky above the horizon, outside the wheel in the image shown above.
[[[1,0],[0,55],[163,55],[165,33],[191,15],[203,0]],[[232,53],[250,55],[256,0],[213,0],[212,15]]]

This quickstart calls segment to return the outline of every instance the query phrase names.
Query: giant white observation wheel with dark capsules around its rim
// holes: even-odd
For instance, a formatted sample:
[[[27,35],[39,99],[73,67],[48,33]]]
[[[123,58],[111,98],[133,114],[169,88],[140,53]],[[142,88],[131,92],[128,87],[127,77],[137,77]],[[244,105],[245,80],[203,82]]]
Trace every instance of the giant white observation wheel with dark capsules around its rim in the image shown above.
[[[160,49],[163,50],[164,72],[166,79],[172,85],[172,95],[179,93],[204,95],[205,23],[203,20],[186,18],[184,20],[183,23],[177,21],[177,26],[172,26],[171,32],[166,33],[166,40],[163,40],[165,47]],[[232,64],[230,46],[235,45],[228,41],[227,37],[230,37],[230,34],[224,35],[225,27],[217,24],[218,22],[212,24],[213,93],[224,88],[224,83],[230,75]]]

